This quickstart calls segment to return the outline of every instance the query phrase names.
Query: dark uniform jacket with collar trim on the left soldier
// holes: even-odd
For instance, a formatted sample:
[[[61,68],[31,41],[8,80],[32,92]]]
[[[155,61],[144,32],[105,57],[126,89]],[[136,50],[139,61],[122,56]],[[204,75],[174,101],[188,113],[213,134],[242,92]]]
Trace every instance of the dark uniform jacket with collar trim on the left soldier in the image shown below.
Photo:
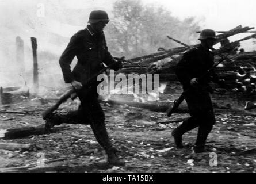
[[[77,56],[78,62],[71,71],[70,64]],[[60,56],[59,64],[62,68],[64,81],[70,83],[74,80],[82,84],[97,74],[104,66],[114,62],[112,55],[108,52],[104,32],[95,33],[91,26],[80,30],[71,37],[70,43]]]

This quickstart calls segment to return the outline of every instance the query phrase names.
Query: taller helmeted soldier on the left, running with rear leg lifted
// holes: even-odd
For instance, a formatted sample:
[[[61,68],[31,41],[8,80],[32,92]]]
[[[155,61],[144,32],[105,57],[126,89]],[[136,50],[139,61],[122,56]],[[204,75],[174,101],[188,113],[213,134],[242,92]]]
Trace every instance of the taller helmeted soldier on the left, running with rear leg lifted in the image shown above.
[[[97,74],[104,67],[103,63],[107,66],[111,64],[114,70],[119,70],[122,67],[121,63],[114,60],[108,52],[103,32],[108,22],[108,14],[105,11],[92,11],[87,27],[71,37],[70,43],[59,59],[59,64],[64,81],[71,83],[77,90],[81,104],[77,112],[70,112],[66,115],[51,114],[47,118],[45,128],[50,129],[54,125],[62,123],[90,124],[95,138],[108,155],[108,163],[123,166],[124,162],[117,157],[117,150],[110,142],[106,131],[105,114],[98,102],[97,85],[99,82],[92,82],[94,85],[89,89],[82,88],[91,76]],[[71,71],[70,64],[75,56],[77,56],[78,62],[74,70]]]

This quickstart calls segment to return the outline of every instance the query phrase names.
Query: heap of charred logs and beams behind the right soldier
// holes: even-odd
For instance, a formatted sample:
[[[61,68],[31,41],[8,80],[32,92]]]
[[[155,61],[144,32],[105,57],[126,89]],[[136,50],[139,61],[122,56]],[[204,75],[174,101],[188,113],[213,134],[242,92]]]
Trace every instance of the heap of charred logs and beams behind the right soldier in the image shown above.
[[[239,25],[234,29],[217,35],[215,44],[221,43],[221,47],[213,51],[215,53],[215,60],[217,61],[227,54],[228,59],[224,61],[221,66],[216,68],[216,72],[220,78],[226,80],[228,90],[223,94],[223,90],[217,89],[217,86],[212,84],[213,90],[215,91],[213,94],[215,94],[216,97],[219,95],[223,98],[223,95],[228,95],[229,97],[241,97],[246,100],[256,101],[256,52],[244,52],[243,49],[238,51],[241,41],[255,39],[256,34],[231,43],[228,41],[228,37],[239,33],[254,33],[249,32],[251,29],[254,28],[243,28]],[[123,74],[159,74],[160,82],[170,82],[170,85],[177,85],[177,77],[174,74],[176,64],[185,51],[188,51],[190,48],[198,47],[198,44],[189,46],[169,36],[167,37],[177,41],[183,47],[167,50],[159,48],[161,52],[130,59],[119,72]]]

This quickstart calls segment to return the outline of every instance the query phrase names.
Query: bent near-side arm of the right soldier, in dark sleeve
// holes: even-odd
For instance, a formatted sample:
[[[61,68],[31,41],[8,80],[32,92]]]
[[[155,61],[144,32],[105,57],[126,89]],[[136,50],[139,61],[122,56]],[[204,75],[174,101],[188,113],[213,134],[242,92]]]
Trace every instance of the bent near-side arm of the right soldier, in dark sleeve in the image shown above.
[[[192,76],[189,75],[189,68],[191,67],[192,57],[190,53],[184,53],[182,59],[179,61],[175,68],[175,74],[182,85],[190,85]]]

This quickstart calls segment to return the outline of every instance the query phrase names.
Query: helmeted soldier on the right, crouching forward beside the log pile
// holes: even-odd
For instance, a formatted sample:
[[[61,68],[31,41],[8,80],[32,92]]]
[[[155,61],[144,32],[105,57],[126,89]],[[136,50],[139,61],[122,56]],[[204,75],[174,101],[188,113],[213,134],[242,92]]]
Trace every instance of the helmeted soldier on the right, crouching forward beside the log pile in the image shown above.
[[[215,72],[211,72],[202,81],[197,81],[197,79],[213,66],[214,56],[210,49],[212,49],[216,39],[213,30],[202,30],[198,39],[201,41],[200,46],[184,53],[176,66],[175,73],[182,83],[183,89],[189,89],[185,100],[190,114],[190,117],[172,132],[177,148],[183,148],[182,135],[198,127],[197,140],[193,150],[196,153],[204,152],[207,136],[215,124],[208,82],[213,81],[224,85],[224,80],[219,79]]]

